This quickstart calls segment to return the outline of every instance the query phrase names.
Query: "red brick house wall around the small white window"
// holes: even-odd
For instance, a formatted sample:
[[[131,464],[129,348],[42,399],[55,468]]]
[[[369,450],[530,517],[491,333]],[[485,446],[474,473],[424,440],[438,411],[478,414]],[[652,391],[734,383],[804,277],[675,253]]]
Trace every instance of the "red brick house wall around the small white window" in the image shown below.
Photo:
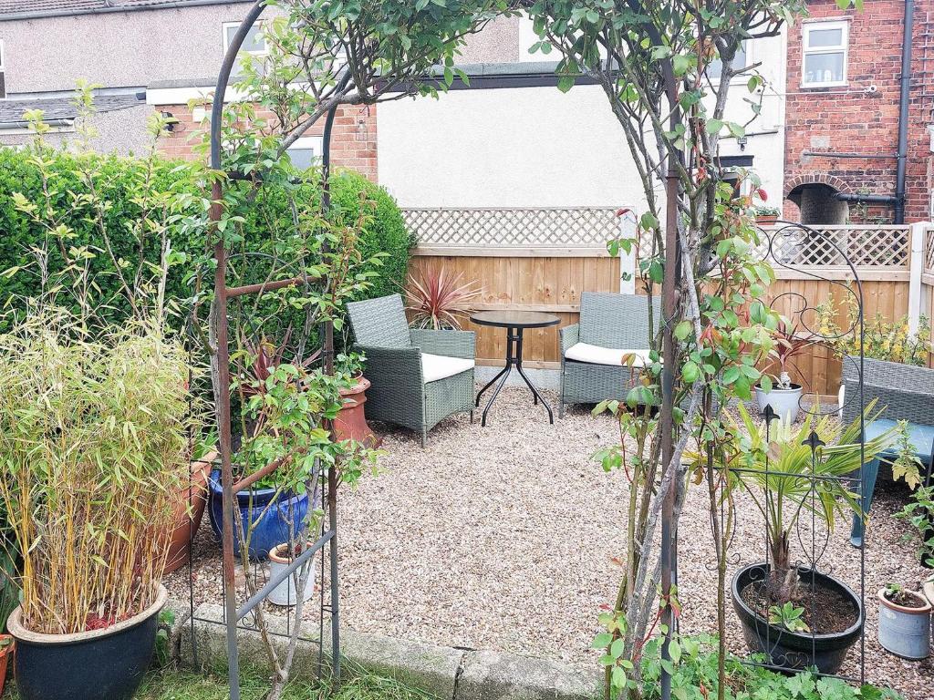
[[[837,88],[801,87],[802,25],[788,28],[788,65],[785,102],[785,197],[803,184],[824,183],[843,192],[893,195],[899,133],[899,78],[904,0],[873,0],[862,11],[842,12],[833,0],[811,0],[811,20],[846,18],[850,24],[848,85]],[[912,101],[905,220],[927,218],[930,190],[930,149],[925,96],[925,45],[931,28],[934,0],[918,0],[913,31]],[[929,57],[934,59],[934,53]],[[875,91],[870,91],[874,86]],[[806,151],[846,152],[878,158],[806,155]],[[797,219],[798,207],[785,199],[785,217]],[[891,206],[849,204],[854,223],[886,221]]]

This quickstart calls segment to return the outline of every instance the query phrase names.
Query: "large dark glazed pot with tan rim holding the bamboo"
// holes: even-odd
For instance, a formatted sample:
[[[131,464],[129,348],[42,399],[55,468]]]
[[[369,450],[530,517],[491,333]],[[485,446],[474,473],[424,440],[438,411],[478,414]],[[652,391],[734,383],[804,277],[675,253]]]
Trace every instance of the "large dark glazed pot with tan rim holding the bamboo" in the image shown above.
[[[152,660],[159,611],[168,597],[129,620],[72,635],[30,632],[21,609],[7,627],[16,638],[16,686],[21,700],[130,700]]]

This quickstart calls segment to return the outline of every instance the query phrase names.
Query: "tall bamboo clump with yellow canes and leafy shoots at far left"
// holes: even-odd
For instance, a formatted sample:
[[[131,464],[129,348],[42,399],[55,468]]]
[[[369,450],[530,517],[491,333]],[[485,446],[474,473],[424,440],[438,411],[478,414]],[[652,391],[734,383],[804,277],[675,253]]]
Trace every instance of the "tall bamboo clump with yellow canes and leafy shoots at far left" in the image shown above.
[[[135,257],[119,256],[106,223],[111,203],[100,173],[85,158],[92,88],[79,85],[75,167],[85,189],[66,191],[50,168],[41,113],[27,114],[35,134],[26,157],[42,183],[33,201],[14,193],[17,209],[44,232],[33,247],[35,296],[19,299],[0,334],[0,505],[7,513],[7,591],[19,589],[21,622],[46,634],[105,628],[149,607],[158,593],[177,492],[204,419],[191,396],[199,368],[167,331],[165,280],[175,264],[167,231],[175,203],[153,193],[138,171],[128,226]],[[150,121],[153,139],[163,120]],[[75,240],[83,217],[96,245]],[[156,263],[146,250],[158,251]],[[53,251],[64,266],[47,264]],[[108,294],[92,261],[110,260],[118,278]],[[123,322],[108,322],[116,307]]]

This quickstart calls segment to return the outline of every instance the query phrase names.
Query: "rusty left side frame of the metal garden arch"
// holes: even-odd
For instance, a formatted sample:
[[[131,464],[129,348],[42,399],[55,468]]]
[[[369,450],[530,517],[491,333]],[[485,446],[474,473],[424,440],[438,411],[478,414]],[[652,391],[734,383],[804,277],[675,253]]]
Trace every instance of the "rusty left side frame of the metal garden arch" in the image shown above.
[[[211,132],[210,132],[210,167],[212,170],[219,171],[222,167],[221,162],[221,144],[220,127],[223,119],[224,96],[227,91],[227,83],[233,73],[233,65],[236,63],[237,55],[243,42],[246,40],[250,29],[259,20],[263,10],[266,8],[265,0],[257,0],[250,7],[246,17],[240,22],[236,33],[231,39],[227,52],[224,54],[223,63],[220,65],[217,84],[214,90],[214,97],[211,104]],[[340,81],[347,84],[350,74],[344,71]],[[327,113],[324,124],[322,169],[321,169],[321,210],[326,212],[330,206],[331,197],[329,189],[329,175],[331,171],[331,133],[333,131],[334,116],[337,106],[333,106]],[[215,179],[211,189],[211,208],[209,220],[212,231],[214,224],[220,221],[222,215],[222,184],[220,179]],[[231,387],[230,373],[227,368],[230,366],[230,346],[228,337],[229,319],[228,319],[228,300],[233,297],[239,297],[246,294],[259,294],[264,291],[272,291],[284,287],[296,286],[306,281],[304,276],[293,277],[290,279],[276,280],[273,282],[262,283],[260,285],[248,285],[245,287],[227,286],[227,250],[224,246],[222,237],[214,245],[214,258],[216,269],[214,273],[214,296],[215,310],[211,318],[211,323],[215,324],[215,338],[217,343],[216,362],[220,371],[218,372],[218,433],[219,433],[219,453],[220,453],[220,475],[223,491],[223,522],[221,540],[223,544],[223,584],[224,584],[224,622],[227,628],[227,662],[228,675],[230,679],[231,700],[240,698],[240,667],[239,654],[237,651],[236,631],[238,623],[243,620],[252,609],[262,604],[262,601],[278,586],[279,583],[286,581],[298,568],[302,567],[311,557],[322,549],[326,544],[329,545],[330,554],[330,584],[331,584],[331,660],[333,679],[340,679],[340,609],[338,599],[338,574],[337,574],[337,475],[335,469],[328,469],[327,480],[327,510],[328,525],[323,531],[321,537],[309,546],[304,553],[296,557],[289,567],[284,568],[276,576],[271,577],[262,586],[262,589],[250,597],[250,599],[240,608],[236,605],[236,590],[234,583],[235,557],[233,551],[233,518],[236,510],[236,493],[233,488],[233,466],[232,466],[232,434],[231,434]],[[322,356],[324,357],[324,371],[327,374],[333,374],[334,363],[334,333],[333,322],[328,319],[324,322],[324,347]],[[247,488],[252,483],[258,481],[266,475],[266,470],[260,470],[249,477],[237,483],[240,489]],[[296,621],[301,623],[301,621]],[[320,640],[323,644],[323,640]]]

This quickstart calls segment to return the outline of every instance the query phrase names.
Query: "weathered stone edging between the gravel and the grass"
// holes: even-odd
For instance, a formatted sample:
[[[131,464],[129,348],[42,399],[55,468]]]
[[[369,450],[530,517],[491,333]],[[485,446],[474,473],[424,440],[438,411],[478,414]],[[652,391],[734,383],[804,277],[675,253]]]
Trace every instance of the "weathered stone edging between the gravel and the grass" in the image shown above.
[[[205,603],[191,618],[188,603],[170,600],[175,612],[169,635],[179,665],[223,671],[227,665],[223,609]],[[267,615],[270,628],[286,632],[285,616]],[[316,630],[317,631],[317,630]],[[330,633],[323,651],[316,641],[300,641],[292,675],[317,675],[318,662],[330,664]],[[285,644],[284,639],[280,639]],[[241,666],[268,669],[259,634],[238,634]],[[369,672],[399,679],[438,700],[591,700],[601,694],[598,673],[583,673],[549,659],[502,651],[467,650],[341,629],[341,659],[348,675]]]

